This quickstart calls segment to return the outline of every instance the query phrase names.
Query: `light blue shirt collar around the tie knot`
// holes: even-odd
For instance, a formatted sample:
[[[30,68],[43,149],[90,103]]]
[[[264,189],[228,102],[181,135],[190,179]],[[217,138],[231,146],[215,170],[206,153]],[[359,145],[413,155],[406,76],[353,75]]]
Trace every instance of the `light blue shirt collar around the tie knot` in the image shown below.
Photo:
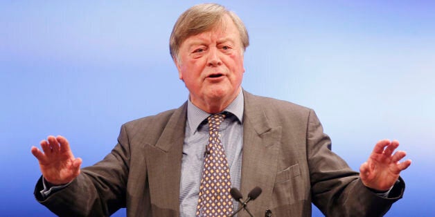
[[[243,122],[243,109],[244,109],[244,97],[243,91],[240,90],[240,93],[237,95],[236,99],[224,109],[229,113],[232,113],[237,117],[237,119],[242,123]],[[202,109],[199,109],[195,106],[190,99],[187,102],[187,121],[190,127],[190,132],[195,132],[198,129],[199,124],[201,124],[210,113],[206,113]]]

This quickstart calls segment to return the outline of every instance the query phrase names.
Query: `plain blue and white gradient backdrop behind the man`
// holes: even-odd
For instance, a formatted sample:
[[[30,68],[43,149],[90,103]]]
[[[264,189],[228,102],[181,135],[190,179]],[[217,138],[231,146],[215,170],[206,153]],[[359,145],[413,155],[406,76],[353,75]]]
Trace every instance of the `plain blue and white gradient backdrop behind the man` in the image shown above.
[[[33,198],[30,147],[46,135],[64,135],[88,166],[121,124],[187,99],[168,38],[196,3],[0,2],[0,216],[54,216]],[[399,140],[413,164],[387,216],[434,216],[433,1],[220,3],[249,30],[247,91],[317,111],[355,170],[375,142]]]

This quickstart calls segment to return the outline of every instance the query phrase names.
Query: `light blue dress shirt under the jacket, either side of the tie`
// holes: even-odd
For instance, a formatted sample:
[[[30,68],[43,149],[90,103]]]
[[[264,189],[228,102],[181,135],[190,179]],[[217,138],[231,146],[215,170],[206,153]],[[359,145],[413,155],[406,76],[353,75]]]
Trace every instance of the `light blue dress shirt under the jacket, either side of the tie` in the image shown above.
[[[231,104],[224,109],[227,117],[222,122],[219,133],[230,169],[231,185],[240,189],[243,146],[243,93],[240,91]],[[202,164],[208,141],[206,118],[211,114],[202,111],[188,100],[186,130],[181,162],[180,216],[195,216],[201,185]],[[237,210],[238,202],[233,201]]]

